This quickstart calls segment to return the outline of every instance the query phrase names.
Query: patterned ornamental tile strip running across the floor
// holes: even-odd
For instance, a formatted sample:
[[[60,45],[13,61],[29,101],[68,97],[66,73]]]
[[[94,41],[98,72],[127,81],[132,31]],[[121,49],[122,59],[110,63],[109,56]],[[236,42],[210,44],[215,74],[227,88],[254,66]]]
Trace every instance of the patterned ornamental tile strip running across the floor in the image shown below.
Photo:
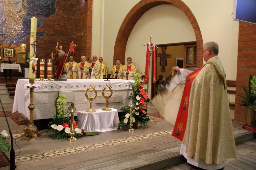
[[[38,153],[31,153],[27,155],[20,155],[15,157],[15,164],[23,164],[23,163],[29,163],[34,162],[37,160],[44,160],[49,158],[55,158],[59,156],[66,156],[81,152],[88,152],[91,150],[97,150],[102,148],[108,148],[113,147],[117,145],[124,145],[126,143],[132,143],[137,142],[141,140],[147,140],[152,139],[156,137],[161,136],[167,136],[172,134],[173,129],[163,130],[159,132],[152,132],[148,134],[142,134],[142,135],[136,135],[136,136],[129,136],[119,139],[113,139],[113,140],[107,140],[103,142],[96,142],[96,143],[89,143],[86,145],[80,145],[80,146],[74,146],[74,147],[68,147],[68,148],[60,148],[55,149],[51,151],[44,151],[44,152],[38,152]]]

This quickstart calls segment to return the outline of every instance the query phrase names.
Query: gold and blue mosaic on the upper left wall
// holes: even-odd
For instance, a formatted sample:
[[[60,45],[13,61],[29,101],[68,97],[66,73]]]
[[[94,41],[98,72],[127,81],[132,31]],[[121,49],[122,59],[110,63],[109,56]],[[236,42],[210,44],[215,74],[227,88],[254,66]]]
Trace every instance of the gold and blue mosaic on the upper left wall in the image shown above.
[[[22,44],[30,35],[30,18],[55,14],[56,0],[0,0],[0,42]],[[37,20],[37,28],[43,20]],[[37,35],[44,35],[38,32]]]

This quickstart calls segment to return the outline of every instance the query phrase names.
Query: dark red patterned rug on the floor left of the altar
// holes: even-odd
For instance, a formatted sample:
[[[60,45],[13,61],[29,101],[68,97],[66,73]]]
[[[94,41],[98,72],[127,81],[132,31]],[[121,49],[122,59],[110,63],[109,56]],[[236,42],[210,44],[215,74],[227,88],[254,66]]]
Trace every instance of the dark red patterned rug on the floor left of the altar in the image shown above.
[[[5,111],[6,116],[9,116],[18,125],[28,124],[29,120],[19,112]],[[4,117],[3,111],[0,111],[0,117]]]

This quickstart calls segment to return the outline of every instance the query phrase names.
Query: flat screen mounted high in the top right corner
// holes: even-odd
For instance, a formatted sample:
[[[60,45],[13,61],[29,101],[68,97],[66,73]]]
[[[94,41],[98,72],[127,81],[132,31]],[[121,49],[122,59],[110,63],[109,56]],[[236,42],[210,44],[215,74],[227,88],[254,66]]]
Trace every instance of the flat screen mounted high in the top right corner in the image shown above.
[[[233,20],[256,24],[256,0],[234,0]]]

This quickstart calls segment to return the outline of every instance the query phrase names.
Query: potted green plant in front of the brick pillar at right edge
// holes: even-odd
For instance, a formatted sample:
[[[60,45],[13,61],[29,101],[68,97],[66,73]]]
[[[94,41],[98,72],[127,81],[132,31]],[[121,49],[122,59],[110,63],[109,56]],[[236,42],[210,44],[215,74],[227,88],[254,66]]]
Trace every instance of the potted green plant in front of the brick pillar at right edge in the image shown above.
[[[256,113],[256,77],[249,76],[248,88],[243,87],[245,94],[238,94],[238,96],[242,97],[242,103],[238,103],[239,105],[246,107],[246,124],[251,124],[252,121],[255,120]]]

